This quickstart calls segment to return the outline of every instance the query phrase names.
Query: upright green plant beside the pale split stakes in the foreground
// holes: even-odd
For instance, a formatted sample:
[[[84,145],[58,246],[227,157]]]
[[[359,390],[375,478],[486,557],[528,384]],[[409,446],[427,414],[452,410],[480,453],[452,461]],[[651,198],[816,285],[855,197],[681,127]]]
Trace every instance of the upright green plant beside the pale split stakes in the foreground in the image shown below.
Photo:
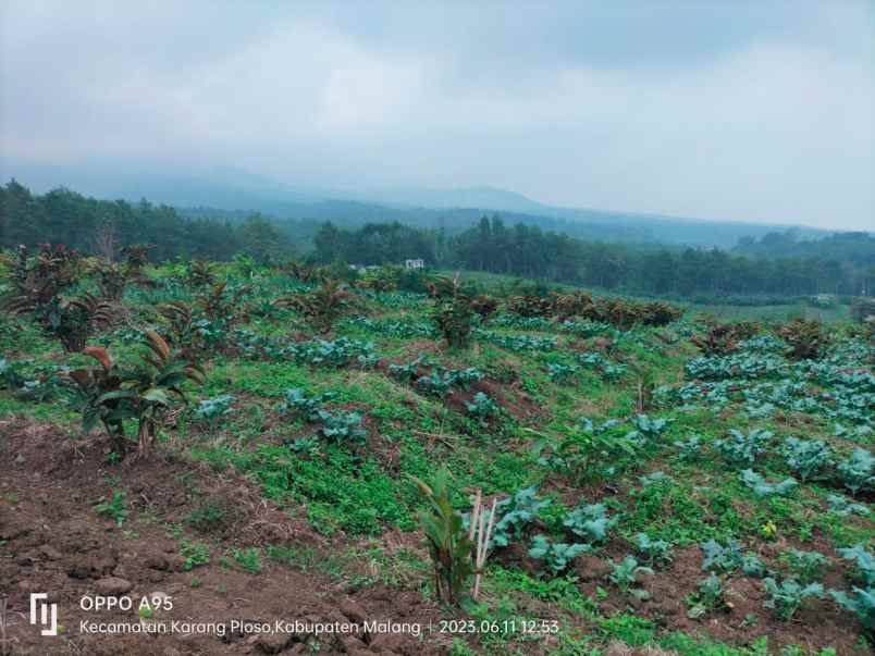
[[[449,474],[446,470],[440,471],[432,485],[415,476],[412,480],[427,503],[419,518],[429,543],[435,592],[442,602],[457,604],[473,573],[475,545],[468,537],[461,515],[453,508]]]

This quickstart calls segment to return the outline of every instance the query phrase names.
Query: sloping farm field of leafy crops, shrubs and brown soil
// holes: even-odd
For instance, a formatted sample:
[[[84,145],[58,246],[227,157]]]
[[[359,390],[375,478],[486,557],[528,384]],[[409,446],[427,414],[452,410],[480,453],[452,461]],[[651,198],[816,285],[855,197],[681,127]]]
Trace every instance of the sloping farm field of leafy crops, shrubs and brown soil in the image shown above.
[[[871,326],[331,273],[5,256],[0,654],[871,653]]]

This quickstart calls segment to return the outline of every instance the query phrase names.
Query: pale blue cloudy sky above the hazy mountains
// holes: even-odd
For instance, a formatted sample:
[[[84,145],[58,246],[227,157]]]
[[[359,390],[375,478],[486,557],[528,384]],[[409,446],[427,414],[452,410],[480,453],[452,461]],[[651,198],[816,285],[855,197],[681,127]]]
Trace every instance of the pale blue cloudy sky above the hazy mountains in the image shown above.
[[[0,158],[875,230],[875,2],[2,0]]]

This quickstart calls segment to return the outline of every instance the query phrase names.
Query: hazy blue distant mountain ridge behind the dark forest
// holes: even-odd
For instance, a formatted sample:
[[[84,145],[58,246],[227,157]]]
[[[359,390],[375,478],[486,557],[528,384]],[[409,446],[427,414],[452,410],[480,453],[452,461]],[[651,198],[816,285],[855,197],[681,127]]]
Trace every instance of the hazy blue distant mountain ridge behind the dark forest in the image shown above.
[[[0,175],[7,181],[15,177],[39,193],[66,186],[98,198],[131,201],[148,198],[152,202],[181,208],[185,215],[223,215],[232,221],[248,212],[262,212],[281,223],[333,221],[356,226],[366,222],[398,221],[416,227],[459,231],[484,214],[500,213],[507,224],[526,223],[590,240],[720,248],[734,247],[740,237],[759,238],[789,227],[555,208],[493,187],[344,190],[294,186],[230,168],[181,174],[110,165],[13,164],[0,160]],[[833,234],[802,226],[799,231],[804,238]]]

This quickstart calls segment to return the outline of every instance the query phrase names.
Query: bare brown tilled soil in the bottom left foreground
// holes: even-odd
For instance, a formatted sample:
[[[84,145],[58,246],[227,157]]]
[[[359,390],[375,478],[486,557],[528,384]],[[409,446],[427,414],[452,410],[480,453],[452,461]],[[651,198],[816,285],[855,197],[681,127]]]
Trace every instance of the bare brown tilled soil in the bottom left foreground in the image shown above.
[[[10,653],[445,653],[447,641],[427,630],[423,642],[409,631],[370,634],[361,629],[365,620],[436,623],[439,609],[416,592],[379,585],[350,591],[334,579],[272,562],[263,552],[261,573],[238,567],[230,554],[241,547],[271,544],[325,554],[333,548],[311,531],[303,515],[292,516],[261,499],[247,481],[161,455],[107,466],[101,447],[71,440],[54,426],[0,421],[0,596],[9,599]],[[124,491],[131,511],[121,528],[93,509],[113,488]],[[207,533],[186,523],[184,535],[173,534],[174,525],[205,504],[223,508],[222,521]],[[180,555],[183,537],[208,544],[210,562],[185,571]],[[220,562],[224,555],[227,565]],[[130,596],[134,608],[83,610],[81,598],[99,591]],[[40,636],[39,629],[30,626],[32,592],[45,592],[50,603],[58,604],[59,636]],[[219,635],[220,629],[159,635],[81,633],[84,620],[136,624],[140,598],[157,593],[170,595],[173,608],[156,611],[146,621],[214,622],[224,626],[224,635]],[[359,630],[341,635],[306,630],[268,633],[257,627],[230,632],[232,620],[345,622]]]

